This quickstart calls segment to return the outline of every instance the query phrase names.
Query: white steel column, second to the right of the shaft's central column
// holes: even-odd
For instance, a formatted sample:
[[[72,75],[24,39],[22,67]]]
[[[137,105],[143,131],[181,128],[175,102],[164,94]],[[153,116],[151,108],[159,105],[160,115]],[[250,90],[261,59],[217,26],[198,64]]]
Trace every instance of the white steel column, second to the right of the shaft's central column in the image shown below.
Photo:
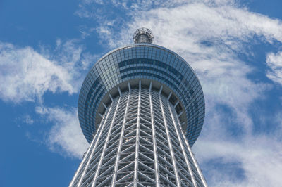
[[[161,100],[161,90],[162,90],[162,86],[161,86],[161,89],[159,91],[159,104],[161,105],[161,113],[164,117],[164,127],[166,129],[166,138],[167,138],[167,141],[168,141],[169,152],[171,153],[171,160],[173,162],[173,169],[174,169],[174,172],[175,172],[175,175],[176,175],[176,184],[177,184],[177,186],[181,186],[179,175],[178,175],[178,168],[177,168],[177,165],[176,165],[176,158],[174,157],[174,152],[173,152],[173,148],[172,148],[172,145],[171,145],[171,136],[169,135],[168,125],[166,123],[166,115],[164,113],[164,106],[163,106],[163,103],[162,103],[162,100]]]

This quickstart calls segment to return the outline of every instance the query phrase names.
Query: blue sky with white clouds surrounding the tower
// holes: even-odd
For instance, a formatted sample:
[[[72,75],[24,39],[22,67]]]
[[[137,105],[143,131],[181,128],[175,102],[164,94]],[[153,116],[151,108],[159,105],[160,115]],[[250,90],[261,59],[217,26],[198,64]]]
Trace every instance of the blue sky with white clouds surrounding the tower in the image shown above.
[[[192,147],[210,186],[281,186],[282,1],[0,1],[0,186],[67,186],[87,149],[78,93],[139,27],[197,72]]]

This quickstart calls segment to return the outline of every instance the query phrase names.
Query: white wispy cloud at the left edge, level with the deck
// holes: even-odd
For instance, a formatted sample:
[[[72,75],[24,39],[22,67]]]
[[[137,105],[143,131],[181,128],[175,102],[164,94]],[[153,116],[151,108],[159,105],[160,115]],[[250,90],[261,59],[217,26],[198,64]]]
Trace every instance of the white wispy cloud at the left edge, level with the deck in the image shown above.
[[[89,58],[75,41],[58,40],[55,51],[40,52],[0,42],[0,98],[20,103],[41,101],[47,91],[76,93]]]

